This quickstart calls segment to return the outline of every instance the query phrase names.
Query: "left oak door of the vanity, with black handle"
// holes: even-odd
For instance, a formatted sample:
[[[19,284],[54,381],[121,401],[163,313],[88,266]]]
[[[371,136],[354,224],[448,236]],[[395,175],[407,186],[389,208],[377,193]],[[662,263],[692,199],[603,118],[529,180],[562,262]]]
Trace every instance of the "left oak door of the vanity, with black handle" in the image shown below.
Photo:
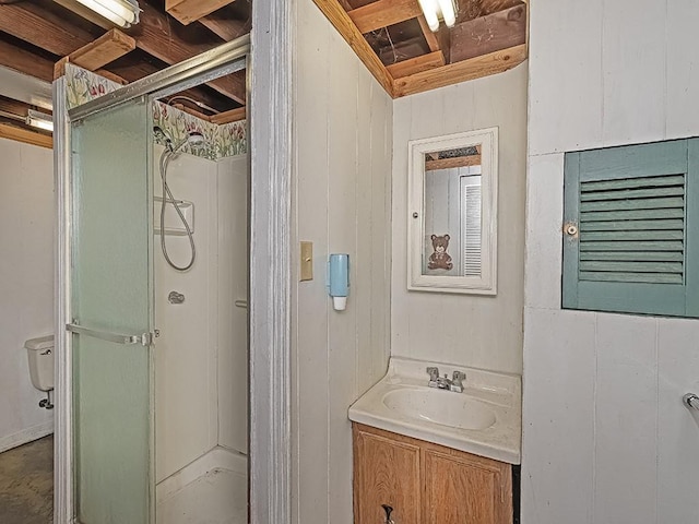
[[[354,425],[354,522],[420,524],[419,446],[398,434]]]

